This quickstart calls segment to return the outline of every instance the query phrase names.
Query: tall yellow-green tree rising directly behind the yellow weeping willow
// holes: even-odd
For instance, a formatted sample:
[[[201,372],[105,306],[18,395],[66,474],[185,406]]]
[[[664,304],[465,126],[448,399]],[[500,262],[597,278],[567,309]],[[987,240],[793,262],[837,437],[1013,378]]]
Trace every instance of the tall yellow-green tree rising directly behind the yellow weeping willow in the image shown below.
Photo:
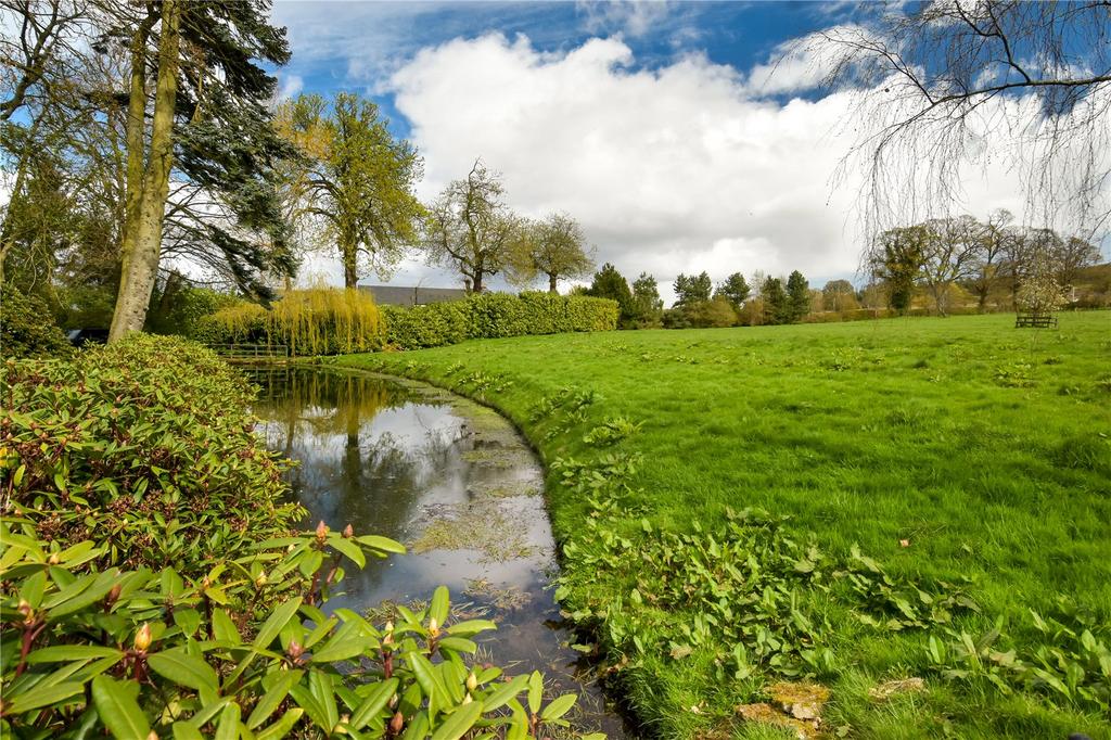
[[[323,224],[312,232],[339,248],[347,288],[367,269],[388,277],[417,241],[424,213],[413,192],[423,173],[417,150],[393,138],[378,106],[349,92],[331,106],[302,94],[282,103],[276,118],[301,153],[286,173],[294,222]]]

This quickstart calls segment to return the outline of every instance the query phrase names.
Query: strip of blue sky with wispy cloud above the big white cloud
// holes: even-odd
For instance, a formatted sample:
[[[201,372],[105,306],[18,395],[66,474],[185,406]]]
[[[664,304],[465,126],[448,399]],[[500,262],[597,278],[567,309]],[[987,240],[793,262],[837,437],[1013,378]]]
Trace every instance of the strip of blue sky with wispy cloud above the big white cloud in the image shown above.
[[[567,52],[595,37],[620,38],[634,54],[632,69],[658,69],[701,53],[748,70],[773,58],[792,39],[869,12],[850,2],[358,2],[279,0],[292,61],[280,71],[289,89],[332,96],[369,94],[399,136],[409,121],[383,82],[421,49],[456,38],[497,32],[528,37],[544,52]]]

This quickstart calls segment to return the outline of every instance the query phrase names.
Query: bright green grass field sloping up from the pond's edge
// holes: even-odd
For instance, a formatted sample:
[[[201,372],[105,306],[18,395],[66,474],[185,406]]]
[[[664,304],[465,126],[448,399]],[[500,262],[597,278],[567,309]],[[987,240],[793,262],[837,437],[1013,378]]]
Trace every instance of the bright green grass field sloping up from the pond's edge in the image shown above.
[[[1010,649],[1037,662],[1051,640],[1031,610],[1068,612],[1051,623],[1057,637],[1058,624],[1078,636],[1087,626],[1109,642],[1111,313],[1065,314],[1052,331],[1012,321],[522,337],[338,362],[477,397],[521,427],[549,466],[557,540],[574,544],[563,557],[563,603],[661,737],[775,737],[734,710],[765,700],[784,671],[790,678],[768,661],[749,674],[730,658],[732,642],[748,639],[732,628],[748,634],[745,609],[754,607],[735,590],[663,600],[687,573],[661,571],[649,554],[671,547],[660,532],[685,536],[675,547],[697,550],[727,527],[730,510],[747,507],[790,517],[783,547],[812,538],[824,553],[821,579],[788,569],[773,583],[815,624],[792,660],[811,648],[831,656],[804,670],[832,690],[828,728],[870,738],[1111,737],[1111,716],[1081,696],[1074,673],[1061,692],[1042,680],[992,679],[987,669],[962,676],[953,671],[965,663],[927,654],[931,637],[954,642],[959,632],[978,639],[998,628],[1002,637],[983,656],[998,650],[983,662],[1001,663]],[[599,427],[628,433],[599,442]],[[583,483],[590,468],[564,478],[552,463],[607,454],[642,461],[623,503],[600,513],[607,504]],[[602,524],[584,527],[592,521]],[[898,629],[883,619],[865,624],[859,617],[870,607],[843,578],[844,563],[860,562],[853,546],[882,563],[897,591],[967,593],[978,611]],[[701,639],[677,637],[677,626],[722,609],[733,619],[695,621]],[[777,609],[760,620],[775,622]],[[1043,668],[1055,660],[1042,658]],[[1107,660],[1085,663],[1088,690],[1111,689]],[[925,691],[870,694],[909,677],[924,678]]]

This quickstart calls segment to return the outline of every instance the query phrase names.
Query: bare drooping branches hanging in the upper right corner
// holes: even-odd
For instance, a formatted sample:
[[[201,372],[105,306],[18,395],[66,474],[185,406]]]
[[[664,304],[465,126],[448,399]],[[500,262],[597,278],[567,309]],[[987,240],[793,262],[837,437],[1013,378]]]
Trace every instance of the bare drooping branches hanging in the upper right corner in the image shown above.
[[[1002,157],[1028,222],[1097,233],[1111,214],[1109,37],[1105,1],[945,0],[891,3],[789,53],[858,101],[840,174],[863,170],[869,231],[948,212],[962,169]]]

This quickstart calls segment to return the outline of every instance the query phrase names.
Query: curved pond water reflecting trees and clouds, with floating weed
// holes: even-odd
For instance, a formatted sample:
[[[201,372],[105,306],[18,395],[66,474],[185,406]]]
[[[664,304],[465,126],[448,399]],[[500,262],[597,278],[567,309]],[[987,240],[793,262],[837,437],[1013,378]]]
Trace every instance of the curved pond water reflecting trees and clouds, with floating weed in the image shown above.
[[[409,548],[349,570],[331,609],[420,604],[444,584],[460,616],[498,623],[480,640],[480,660],[509,674],[542,671],[554,691],[580,694],[579,729],[630,737],[569,647],[549,588],[557,564],[543,470],[506,419],[369,373],[284,368],[252,380],[268,447],[299,462],[289,482],[307,524],[350,523]]]

